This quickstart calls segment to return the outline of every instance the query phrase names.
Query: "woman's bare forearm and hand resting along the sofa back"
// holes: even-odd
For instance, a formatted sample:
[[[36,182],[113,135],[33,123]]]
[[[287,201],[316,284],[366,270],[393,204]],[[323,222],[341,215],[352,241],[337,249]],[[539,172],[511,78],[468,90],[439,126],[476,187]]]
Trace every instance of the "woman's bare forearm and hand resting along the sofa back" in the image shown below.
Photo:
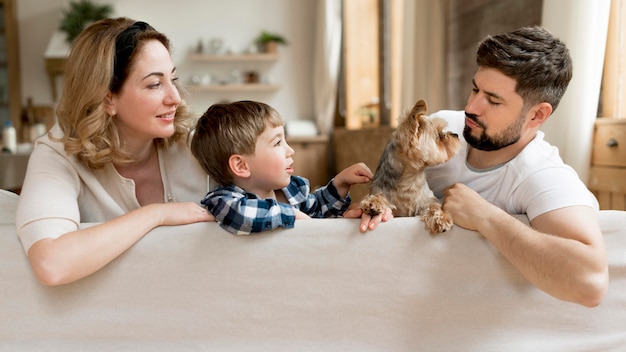
[[[157,226],[211,220],[213,216],[195,203],[151,204],[93,227],[39,240],[28,250],[28,258],[41,283],[61,285],[98,271]]]

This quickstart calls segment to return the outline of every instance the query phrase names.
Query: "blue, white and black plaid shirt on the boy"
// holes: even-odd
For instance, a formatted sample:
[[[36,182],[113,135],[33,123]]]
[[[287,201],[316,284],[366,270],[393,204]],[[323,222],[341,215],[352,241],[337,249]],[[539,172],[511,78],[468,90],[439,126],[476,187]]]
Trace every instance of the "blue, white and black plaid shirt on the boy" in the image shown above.
[[[291,182],[282,192],[289,204],[273,198],[261,199],[254,193],[229,185],[215,188],[200,203],[228,232],[249,235],[281,226],[293,228],[296,221],[294,208],[313,218],[327,218],[340,216],[351,202],[350,195],[341,199],[333,180],[310,193],[306,178],[291,176]]]

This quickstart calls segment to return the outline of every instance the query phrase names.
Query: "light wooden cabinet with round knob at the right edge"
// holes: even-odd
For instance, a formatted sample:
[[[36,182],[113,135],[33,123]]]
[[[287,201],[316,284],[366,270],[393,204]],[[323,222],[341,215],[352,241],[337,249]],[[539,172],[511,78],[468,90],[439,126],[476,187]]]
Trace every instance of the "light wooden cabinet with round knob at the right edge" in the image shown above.
[[[626,119],[596,120],[589,189],[601,209],[626,210]]]

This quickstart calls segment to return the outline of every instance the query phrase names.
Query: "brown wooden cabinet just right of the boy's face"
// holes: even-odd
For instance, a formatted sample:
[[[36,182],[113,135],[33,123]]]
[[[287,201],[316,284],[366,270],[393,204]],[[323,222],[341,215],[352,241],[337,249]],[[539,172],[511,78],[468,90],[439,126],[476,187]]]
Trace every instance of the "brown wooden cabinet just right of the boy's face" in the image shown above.
[[[330,181],[327,136],[287,137],[287,143],[295,151],[294,174],[306,177],[311,191]]]

